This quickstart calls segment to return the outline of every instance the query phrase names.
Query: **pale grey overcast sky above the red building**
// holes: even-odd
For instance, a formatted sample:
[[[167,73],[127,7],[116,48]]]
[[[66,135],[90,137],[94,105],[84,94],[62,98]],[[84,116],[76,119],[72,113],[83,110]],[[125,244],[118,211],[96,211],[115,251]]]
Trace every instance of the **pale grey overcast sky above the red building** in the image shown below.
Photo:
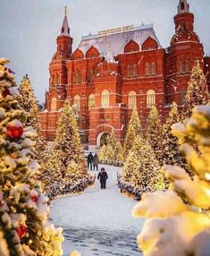
[[[81,36],[125,25],[153,23],[163,47],[174,32],[173,16],[179,0],[0,0],[0,56],[11,59],[10,67],[20,83],[25,73],[40,102],[48,88],[48,64],[56,50],[56,37],[63,22],[64,6],[73,48]],[[189,0],[195,14],[195,30],[210,53],[210,0]]]

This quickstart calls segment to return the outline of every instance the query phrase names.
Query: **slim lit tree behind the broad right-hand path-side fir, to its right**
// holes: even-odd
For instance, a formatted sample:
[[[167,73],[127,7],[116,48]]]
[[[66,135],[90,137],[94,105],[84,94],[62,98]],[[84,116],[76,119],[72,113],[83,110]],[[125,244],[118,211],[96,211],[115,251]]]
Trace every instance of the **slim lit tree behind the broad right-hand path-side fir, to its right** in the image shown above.
[[[162,124],[161,117],[158,114],[156,107],[152,107],[149,115],[147,116],[147,132],[146,139],[149,145],[155,152],[156,158],[159,160],[161,152],[161,135],[162,135]]]

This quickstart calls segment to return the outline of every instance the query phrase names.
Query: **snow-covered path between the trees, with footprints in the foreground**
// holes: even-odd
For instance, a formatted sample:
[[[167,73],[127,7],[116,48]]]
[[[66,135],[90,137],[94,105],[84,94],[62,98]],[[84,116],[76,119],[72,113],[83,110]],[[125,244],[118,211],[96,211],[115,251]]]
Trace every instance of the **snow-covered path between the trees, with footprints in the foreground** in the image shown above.
[[[116,174],[121,168],[105,169],[109,176],[106,190],[96,181],[86,192],[57,198],[52,204],[51,218],[56,226],[63,227],[64,256],[73,250],[82,256],[142,255],[136,236],[143,221],[130,215],[136,201],[118,192]]]

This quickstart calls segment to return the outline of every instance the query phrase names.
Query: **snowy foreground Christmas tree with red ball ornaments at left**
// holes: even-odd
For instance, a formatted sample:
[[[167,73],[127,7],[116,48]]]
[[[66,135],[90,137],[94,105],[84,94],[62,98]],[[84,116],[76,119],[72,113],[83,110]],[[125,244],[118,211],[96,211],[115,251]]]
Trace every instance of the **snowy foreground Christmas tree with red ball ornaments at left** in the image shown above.
[[[62,230],[48,222],[47,198],[37,182],[37,133],[22,123],[24,112],[6,63],[0,59],[0,244],[7,244],[10,255],[62,255]]]

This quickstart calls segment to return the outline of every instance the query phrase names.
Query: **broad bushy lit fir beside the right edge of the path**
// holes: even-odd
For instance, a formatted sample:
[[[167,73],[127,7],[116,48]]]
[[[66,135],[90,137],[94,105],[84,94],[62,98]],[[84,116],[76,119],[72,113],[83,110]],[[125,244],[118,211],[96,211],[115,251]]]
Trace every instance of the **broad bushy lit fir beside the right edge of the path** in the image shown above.
[[[122,170],[121,189],[126,191],[128,183],[140,193],[164,189],[164,175],[159,169],[153,149],[147,141],[137,135]]]

